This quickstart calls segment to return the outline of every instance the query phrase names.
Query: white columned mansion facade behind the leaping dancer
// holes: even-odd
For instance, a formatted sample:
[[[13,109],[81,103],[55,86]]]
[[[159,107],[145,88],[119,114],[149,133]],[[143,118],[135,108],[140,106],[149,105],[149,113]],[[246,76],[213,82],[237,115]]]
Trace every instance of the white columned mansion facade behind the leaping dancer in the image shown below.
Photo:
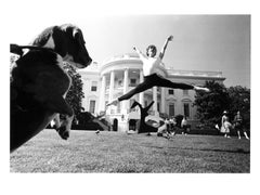
[[[144,107],[154,101],[152,115],[158,116],[159,113],[166,113],[169,116],[185,115],[190,121],[198,121],[196,106],[193,106],[195,100],[193,90],[154,87],[106,109],[107,102],[127,93],[143,81],[142,65],[142,61],[135,53],[127,53],[114,56],[102,65],[92,64],[86,70],[79,72],[83,81],[82,106],[84,109],[93,114],[105,110],[110,122],[116,121],[118,131],[128,130],[130,106],[134,100]],[[225,79],[221,72],[176,70],[167,68],[164,64],[159,72],[173,82],[198,86],[204,86],[209,80],[222,83]]]

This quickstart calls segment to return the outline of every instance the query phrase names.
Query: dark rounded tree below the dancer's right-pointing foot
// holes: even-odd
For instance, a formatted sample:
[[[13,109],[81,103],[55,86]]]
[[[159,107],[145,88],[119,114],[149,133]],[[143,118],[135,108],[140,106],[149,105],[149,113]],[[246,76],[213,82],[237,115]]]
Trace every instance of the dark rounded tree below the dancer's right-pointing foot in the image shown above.
[[[231,104],[229,92],[224,84],[216,81],[206,81],[207,92],[196,92],[194,105],[197,106],[197,116],[203,123],[219,123],[223,110],[227,109]]]

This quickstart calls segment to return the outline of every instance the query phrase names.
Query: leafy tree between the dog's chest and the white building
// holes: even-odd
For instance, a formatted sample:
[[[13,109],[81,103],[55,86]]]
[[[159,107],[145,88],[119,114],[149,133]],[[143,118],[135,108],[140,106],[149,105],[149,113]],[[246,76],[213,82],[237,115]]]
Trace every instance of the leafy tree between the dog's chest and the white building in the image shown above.
[[[82,91],[82,80],[81,76],[76,72],[76,68],[72,66],[69,63],[64,62],[64,69],[72,77],[72,86],[67,92],[66,101],[74,109],[76,118],[79,116],[82,108],[82,99],[84,98]]]

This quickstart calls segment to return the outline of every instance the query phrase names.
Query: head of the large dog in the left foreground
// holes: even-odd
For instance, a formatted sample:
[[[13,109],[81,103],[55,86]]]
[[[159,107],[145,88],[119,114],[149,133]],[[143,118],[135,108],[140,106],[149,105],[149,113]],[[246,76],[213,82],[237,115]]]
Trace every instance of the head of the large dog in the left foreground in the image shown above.
[[[75,25],[49,27],[32,41],[32,46],[51,48],[78,68],[84,68],[92,62],[84,47],[82,31]]]

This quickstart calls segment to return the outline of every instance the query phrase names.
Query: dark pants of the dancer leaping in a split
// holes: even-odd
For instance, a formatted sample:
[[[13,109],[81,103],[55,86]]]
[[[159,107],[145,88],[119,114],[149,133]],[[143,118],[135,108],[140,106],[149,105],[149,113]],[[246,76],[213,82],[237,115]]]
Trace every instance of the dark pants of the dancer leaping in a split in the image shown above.
[[[123,94],[118,100],[119,101],[129,100],[134,94],[141,93],[141,92],[143,92],[147,89],[151,89],[155,86],[164,87],[164,88],[182,89],[182,90],[194,89],[194,87],[191,84],[181,83],[181,82],[172,82],[170,80],[167,80],[167,79],[158,76],[157,74],[153,74],[153,75],[144,77],[144,81],[142,83],[138,84],[134,89],[132,89],[128,93]]]

